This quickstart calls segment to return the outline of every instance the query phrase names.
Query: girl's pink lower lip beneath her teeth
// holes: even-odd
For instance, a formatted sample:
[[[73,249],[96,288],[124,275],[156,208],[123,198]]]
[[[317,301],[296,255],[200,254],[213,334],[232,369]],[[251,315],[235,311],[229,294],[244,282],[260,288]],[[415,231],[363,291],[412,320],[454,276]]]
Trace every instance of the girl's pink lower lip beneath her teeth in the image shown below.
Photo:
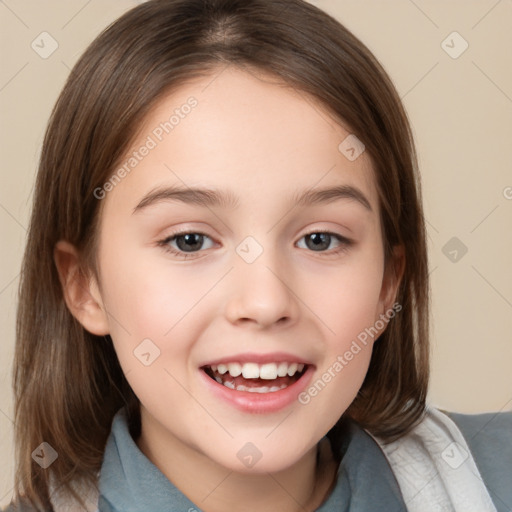
[[[204,380],[208,389],[221,400],[226,401],[243,412],[264,414],[280,411],[294,401],[297,401],[298,395],[311,381],[314,371],[314,366],[309,365],[299,380],[284,389],[269,393],[251,393],[250,391],[230,389],[209,377],[203,370],[200,369],[199,373],[201,375],[200,378]]]

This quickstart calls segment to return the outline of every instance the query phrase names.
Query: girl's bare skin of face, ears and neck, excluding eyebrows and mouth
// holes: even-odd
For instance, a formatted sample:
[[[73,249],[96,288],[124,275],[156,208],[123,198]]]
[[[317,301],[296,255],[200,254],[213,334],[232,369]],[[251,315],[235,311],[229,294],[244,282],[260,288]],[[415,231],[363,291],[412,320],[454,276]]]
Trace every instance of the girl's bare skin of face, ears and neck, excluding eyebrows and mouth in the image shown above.
[[[198,367],[285,351],[315,365],[314,382],[392,306],[399,281],[384,272],[371,161],[338,150],[350,131],[313,99],[232,66],[161,100],[132,150],[190,96],[197,107],[102,199],[99,281],[69,279],[79,254],[57,245],[66,301],[86,329],[111,335],[141,401],[137,445],[202,510],[314,510],[337,470],[325,443],[316,468],[319,441],[360,389],[373,341],[307,405],[275,413],[221,402]],[[230,189],[239,207],[161,201],[133,213],[155,186],[184,184]],[[347,198],[290,204],[294,192],[329,185],[357,187],[372,211]],[[182,228],[207,235],[186,260],[158,245]],[[306,244],[311,231],[353,243],[335,254],[342,244],[331,237],[315,250]],[[251,264],[236,252],[247,236],[263,249]],[[147,338],[160,350],[149,366],[133,354]],[[237,457],[247,442],[262,453],[252,468]]]

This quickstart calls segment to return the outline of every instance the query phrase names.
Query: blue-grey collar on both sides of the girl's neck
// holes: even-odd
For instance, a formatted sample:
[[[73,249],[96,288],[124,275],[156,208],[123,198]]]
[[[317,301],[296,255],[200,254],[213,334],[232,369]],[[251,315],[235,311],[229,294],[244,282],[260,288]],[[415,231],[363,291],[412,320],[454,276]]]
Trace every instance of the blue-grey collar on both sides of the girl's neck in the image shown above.
[[[336,485],[317,512],[406,512],[400,488],[379,445],[349,423]],[[132,439],[126,410],[114,416],[99,476],[100,512],[183,512],[200,508],[181,493]]]

